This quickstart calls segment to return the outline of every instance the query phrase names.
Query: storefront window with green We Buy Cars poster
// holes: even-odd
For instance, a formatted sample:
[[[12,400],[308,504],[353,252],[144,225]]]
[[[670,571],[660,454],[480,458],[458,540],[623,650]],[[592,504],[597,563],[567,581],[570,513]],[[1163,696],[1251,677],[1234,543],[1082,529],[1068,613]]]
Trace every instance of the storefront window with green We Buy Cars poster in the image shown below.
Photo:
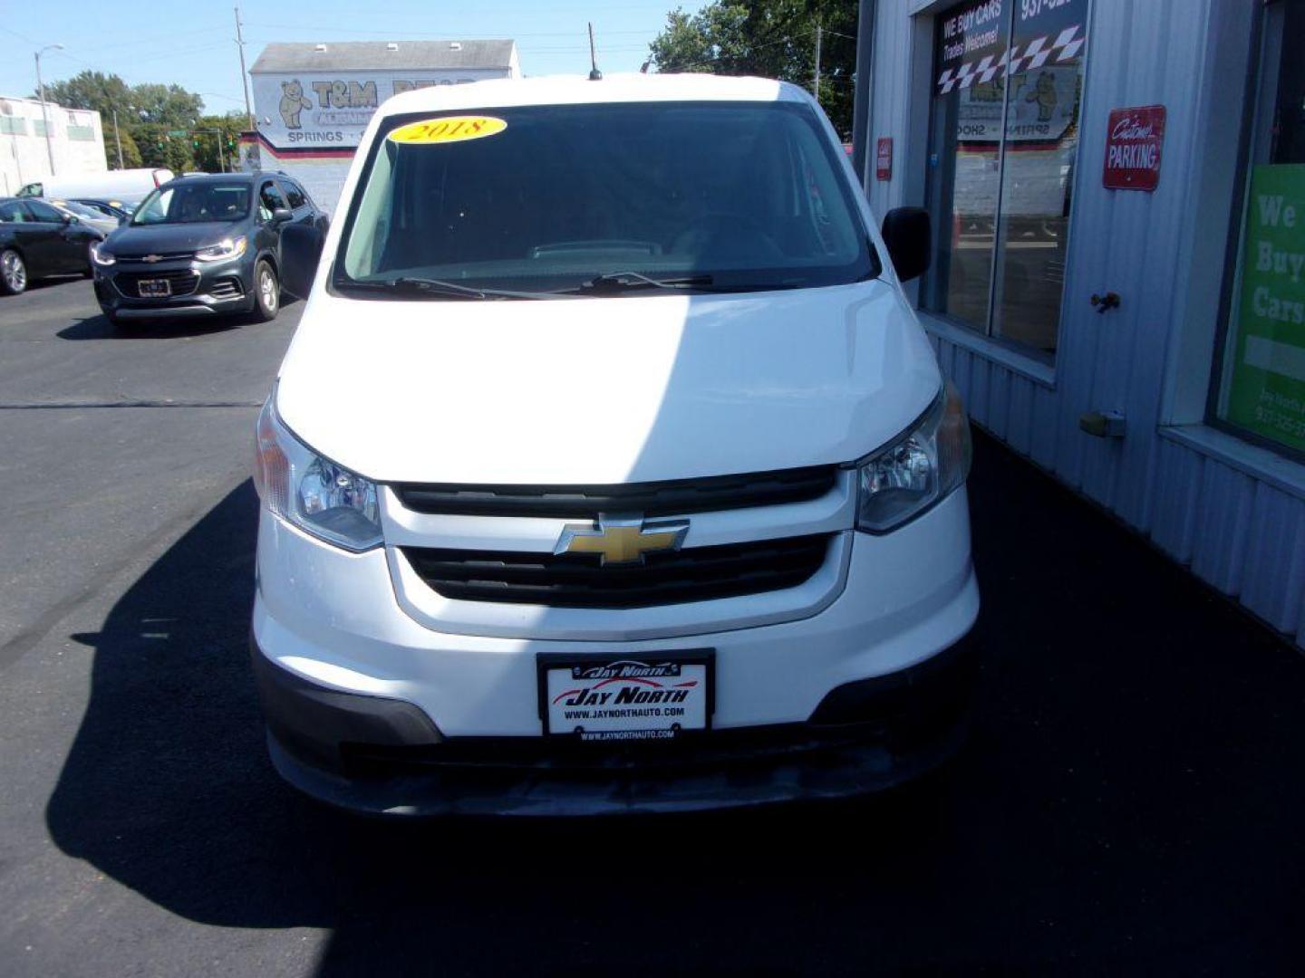
[[[1263,8],[1214,420],[1305,455],[1305,0]]]

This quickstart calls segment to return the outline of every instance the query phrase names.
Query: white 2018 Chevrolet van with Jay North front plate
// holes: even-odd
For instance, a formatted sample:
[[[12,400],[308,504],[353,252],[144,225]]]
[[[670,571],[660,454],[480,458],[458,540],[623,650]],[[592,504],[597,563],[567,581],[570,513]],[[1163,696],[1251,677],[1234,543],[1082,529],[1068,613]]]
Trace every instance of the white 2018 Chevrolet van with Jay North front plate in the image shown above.
[[[372,119],[257,424],[278,771],[373,814],[897,784],[959,742],[970,434],[805,91],[485,81]],[[322,259],[317,261],[317,250]],[[894,274],[894,266],[897,274]]]

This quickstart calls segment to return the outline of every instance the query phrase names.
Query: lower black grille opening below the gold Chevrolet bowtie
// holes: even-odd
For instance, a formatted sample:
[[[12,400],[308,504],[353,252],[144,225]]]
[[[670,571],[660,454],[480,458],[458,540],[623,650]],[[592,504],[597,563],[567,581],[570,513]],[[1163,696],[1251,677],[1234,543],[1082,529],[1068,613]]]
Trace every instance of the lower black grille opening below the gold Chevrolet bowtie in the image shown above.
[[[825,562],[830,536],[758,540],[650,553],[643,563],[602,566],[598,554],[406,546],[436,593],[459,601],[555,608],[650,608],[797,587]]]

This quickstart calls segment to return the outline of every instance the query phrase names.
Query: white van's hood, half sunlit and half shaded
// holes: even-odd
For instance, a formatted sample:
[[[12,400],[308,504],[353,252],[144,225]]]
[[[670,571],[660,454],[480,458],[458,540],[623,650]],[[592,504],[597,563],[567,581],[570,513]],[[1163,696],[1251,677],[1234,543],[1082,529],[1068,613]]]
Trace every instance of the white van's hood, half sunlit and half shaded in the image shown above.
[[[615,484],[851,462],[937,396],[895,286],[559,301],[315,292],[277,409],[394,482]]]

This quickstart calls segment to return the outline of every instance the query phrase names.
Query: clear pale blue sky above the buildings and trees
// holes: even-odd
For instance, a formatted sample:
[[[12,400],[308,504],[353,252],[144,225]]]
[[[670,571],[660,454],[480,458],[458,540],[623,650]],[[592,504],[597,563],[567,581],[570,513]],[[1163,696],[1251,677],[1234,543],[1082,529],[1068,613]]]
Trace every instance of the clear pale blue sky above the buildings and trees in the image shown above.
[[[589,70],[586,22],[594,21],[599,68],[637,72],[667,12],[694,0],[244,0],[245,65],[274,40],[466,40],[512,38],[523,74]],[[172,83],[198,91],[206,112],[244,107],[235,44],[235,4],[163,0],[0,0],[0,96],[91,69],[129,85]]]

